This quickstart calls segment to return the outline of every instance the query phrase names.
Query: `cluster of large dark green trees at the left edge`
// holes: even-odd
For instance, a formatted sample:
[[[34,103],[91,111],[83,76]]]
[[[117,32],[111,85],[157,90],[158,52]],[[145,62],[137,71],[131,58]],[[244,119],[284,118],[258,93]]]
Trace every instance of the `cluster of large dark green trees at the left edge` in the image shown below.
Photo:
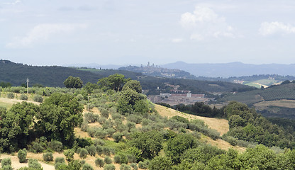
[[[69,94],[52,94],[40,106],[16,103],[9,111],[0,108],[0,149],[14,152],[26,148],[36,137],[74,142],[74,127],[82,123],[83,106]]]

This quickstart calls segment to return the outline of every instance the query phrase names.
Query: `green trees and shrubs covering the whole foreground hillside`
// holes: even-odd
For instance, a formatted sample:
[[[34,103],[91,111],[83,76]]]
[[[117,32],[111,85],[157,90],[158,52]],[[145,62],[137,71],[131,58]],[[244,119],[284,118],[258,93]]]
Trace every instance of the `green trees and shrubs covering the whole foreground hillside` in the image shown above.
[[[65,85],[69,82],[75,84],[64,80]],[[284,123],[274,125],[238,102],[221,109],[204,103],[175,106],[189,114],[228,119],[230,131],[220,136],[202,120],[163,118],[141,94],[142,89],[139,81],[122,74],[81,88],[30,87],[28,95],[25,87],[0,87],[1,97],[18,94],[24,101],[9,109],[0,108],[1,152],[18,152],[20,162],[27,152],[43,153],[45,161],[55,159],[55,169],[94,169],[83,161],[87,157],[94,157],[96,168],[106,170],[115,169],[114,164],[121,164],[120,169],[152,170],[295,168],[294,134]],[[40,105],[27,103],[28,97]],[[83,115],[84,107],[89,111]],[[93,113],[93,108],[100,114]],[[77,126],[92,138],[75,136]],[[247,149],[219,149],[202,142],[202,136]],[[66,161],[52,158],[52,152],[62,152]],[[74,153],[80,160],[74,159]],[[4,166],[10,167],[9,163]],[[33,160],[29,166],[42,169]]]

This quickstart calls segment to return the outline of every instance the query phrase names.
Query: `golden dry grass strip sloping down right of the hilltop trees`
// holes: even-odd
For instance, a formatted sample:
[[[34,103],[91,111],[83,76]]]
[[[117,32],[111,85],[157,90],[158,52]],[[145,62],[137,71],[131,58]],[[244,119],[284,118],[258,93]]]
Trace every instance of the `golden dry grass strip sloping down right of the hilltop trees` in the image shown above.
[[[166,108],[165,106],[160,106],[160,105],[155,105],[155,109],[160,115],[166,116],[167,118],[171,118],[174,115],[179,115],[189,120],[191,119],[203,120],[208,125],[209,128],[217,130],[218,132],[221,133],[221,135],[225,134],[229,130],[228,120],[225,120],[225,119],[205,118],[198,115],[189,115],[187,113],[175,111],[172,108]]]

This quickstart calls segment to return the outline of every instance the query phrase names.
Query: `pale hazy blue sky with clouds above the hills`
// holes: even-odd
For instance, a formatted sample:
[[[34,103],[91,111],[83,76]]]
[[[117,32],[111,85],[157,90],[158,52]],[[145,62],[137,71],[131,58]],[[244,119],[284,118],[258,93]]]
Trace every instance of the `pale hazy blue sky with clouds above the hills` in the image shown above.
[[[1,0],[0,59],[295,63],[294,0]]]

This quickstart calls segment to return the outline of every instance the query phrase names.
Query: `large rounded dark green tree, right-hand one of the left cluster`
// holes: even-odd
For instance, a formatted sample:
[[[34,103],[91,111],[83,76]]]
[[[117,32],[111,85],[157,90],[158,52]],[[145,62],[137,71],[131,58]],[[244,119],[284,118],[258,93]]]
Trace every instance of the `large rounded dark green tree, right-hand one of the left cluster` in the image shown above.
[[[72,95],[52,94],[40,104],[40,133],[49,140],[58,140],[63,145],[74,142],[74,127],[82,123],[83,106]]]

